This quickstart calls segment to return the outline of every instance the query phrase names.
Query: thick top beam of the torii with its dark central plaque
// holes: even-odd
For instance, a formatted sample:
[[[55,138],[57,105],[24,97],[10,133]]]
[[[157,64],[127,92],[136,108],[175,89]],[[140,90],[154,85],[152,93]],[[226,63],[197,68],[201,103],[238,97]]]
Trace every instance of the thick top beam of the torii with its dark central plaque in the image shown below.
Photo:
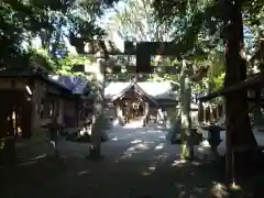
[[[78,40],[75,37],[75,40]],[[80,42],[81,43],[81,42]],[[84,43],[84,41],[82,41]],[[74,42],[72,42],[74,45]],[[85,54],[96,54],[97,52],[101,52],[101,56],[108,57],[109,55],[136,55],[136,70],[138,74],[177,74],[177,72],[170,68],[168,69],[157,69],[151,66],[151,56],[152,55],[174,55],[175,43],[172,42],[139,42],[136,45],[133,42],[125,41],[123,44],[123,50],[118,48],[117,45],[112,41],[102,41],[102,40],[94,40],[90,42],[86,42],[84,44],[84,53]],[[77,48],[82,47],[77,46]],[[122,52],[123,51],[123,52]],[[82,51],[81,51],[82,52]],[[78,68],[77,68],[78,67]],[[75,72],[82,72],[80,66],[76,66],[74,68]],[[112,69],[114,73],[118,73],[118,69]],[[168,72],[169,70],[169,72]],[[112,73],[112,72],[111,72]]]

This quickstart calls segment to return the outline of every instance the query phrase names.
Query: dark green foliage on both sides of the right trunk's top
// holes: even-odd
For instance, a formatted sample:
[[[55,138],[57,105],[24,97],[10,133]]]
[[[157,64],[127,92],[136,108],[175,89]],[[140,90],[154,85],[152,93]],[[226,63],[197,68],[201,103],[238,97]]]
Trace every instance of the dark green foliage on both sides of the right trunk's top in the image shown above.
[[[163,23],[166,22],[175,30],[175,42],[178,43],[182,55],[197,56],[197,54],[207,54],[218,46],[223,47],[222,38],[227,38],[228,33],[223,21],[232,13],[232,6],[227,2],[229,1],[154,0],[153,8],[156,19]],[[246,25],[263,23],[263,1],[243,0],[241,2],[243,2],[242,9]]]

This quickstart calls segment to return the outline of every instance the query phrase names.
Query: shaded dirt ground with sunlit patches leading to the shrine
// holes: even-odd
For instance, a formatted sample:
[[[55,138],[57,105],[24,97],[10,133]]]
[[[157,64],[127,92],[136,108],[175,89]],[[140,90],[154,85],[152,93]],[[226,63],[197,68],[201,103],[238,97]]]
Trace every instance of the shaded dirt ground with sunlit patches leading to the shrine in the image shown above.
[[[210,197],[221,179],[218,169],[199,161],[180,162],[179,146],[169,145],[165,134],[162,129],[114,129],[98,162],[86,158],[88,144],[62,139],[65,166],[48,157],[52,150],[44,140],[26,143],[18,148],[13,185],[1,184],[1,194],[12,189],[9,197],[15,198]]]

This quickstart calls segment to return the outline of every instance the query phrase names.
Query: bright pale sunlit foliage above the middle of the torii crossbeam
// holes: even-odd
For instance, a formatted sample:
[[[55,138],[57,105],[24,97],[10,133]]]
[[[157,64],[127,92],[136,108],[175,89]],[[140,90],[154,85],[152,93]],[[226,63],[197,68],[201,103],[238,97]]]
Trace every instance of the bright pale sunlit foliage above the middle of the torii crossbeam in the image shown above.
[[[124,0],[123,9],[116,9],[108,29],[118,31],[124,40],[166,41],[169,30],[153,16],[154,9],[147,0]]]

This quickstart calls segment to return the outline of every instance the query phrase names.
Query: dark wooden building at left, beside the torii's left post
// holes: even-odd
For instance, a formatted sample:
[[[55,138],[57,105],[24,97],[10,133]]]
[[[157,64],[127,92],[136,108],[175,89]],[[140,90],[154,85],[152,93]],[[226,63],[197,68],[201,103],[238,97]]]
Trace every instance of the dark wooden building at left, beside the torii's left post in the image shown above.
[[[58,123],[67,123],[67,116],[75,118],[78,127],[84,100],[66,86],[45,74],[31,72],[0,72],[1,130],[31,138],[33,132],[56,117]]]

